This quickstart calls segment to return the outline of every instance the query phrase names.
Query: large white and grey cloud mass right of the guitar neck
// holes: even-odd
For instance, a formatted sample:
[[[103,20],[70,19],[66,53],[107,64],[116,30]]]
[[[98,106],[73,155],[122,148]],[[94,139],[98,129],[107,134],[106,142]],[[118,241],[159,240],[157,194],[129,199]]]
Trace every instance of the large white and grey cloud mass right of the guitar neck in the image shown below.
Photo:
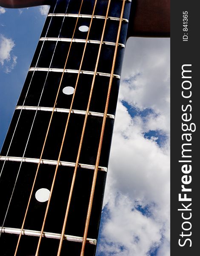
[[[155,129],[169,135],[169,40],[135,38],[127,48],[123,77],[136,77],[121,84],[119,98],[152,112],[132,118],[118,102],[104,198],[109,217],[98,251],[147,256],[158,248],[158,256],[169,256],[169,137],[159,146],[143,135]]]

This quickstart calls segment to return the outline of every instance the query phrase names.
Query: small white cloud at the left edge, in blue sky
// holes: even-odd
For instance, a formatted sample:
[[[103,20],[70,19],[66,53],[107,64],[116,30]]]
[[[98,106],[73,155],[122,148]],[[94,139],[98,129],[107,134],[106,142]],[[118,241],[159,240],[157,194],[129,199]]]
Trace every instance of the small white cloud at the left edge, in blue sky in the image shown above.
[[[15,46],[11,38],[0,35],[0,64],[5,66],[5,72],[9,73],[17,64],[17,56],[12,55],[11,51]]]

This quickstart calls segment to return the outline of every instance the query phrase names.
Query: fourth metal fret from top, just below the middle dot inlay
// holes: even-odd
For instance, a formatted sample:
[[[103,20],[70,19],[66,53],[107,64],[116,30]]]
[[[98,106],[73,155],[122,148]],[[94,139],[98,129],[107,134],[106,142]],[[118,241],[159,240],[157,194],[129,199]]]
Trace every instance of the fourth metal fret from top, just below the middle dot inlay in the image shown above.
[[[37,110],[37,111],[53,111],[53,108],[48,108],[48,107],[36,107],[36,106],[17,106],[15,108],[16,110],[18,109],[23,109],[23,110]],[[68,108],[54,108],[54,112],[62,112],[62,113],[69,113],[69,109]],[[72,109],[71,113],[74,114],[81,114],[81,115],[85,115],[86,111],[84,110],[76,110],[76,109]],[[98,113],[98,112],[92,112],[89,111],[88,113],[90,116],[100,116],[103,117],[103,113]],[[111,114],[107,114],[108,118],[114,119],[114,115]]]

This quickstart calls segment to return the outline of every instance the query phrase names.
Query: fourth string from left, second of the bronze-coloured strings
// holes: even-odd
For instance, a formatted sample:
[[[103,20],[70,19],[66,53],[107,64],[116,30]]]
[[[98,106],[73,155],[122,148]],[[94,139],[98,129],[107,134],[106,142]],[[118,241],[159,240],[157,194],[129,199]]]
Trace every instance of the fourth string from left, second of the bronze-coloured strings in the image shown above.
[[[80,77],[81,67],[82,67],[82,64],[83,64],[83,58],[84,58],[84,55],[85,55],[85,52],[86,52],[86,46],[87,46],[87,42],[88,42],[88,38],[89,38],[89,32],[90,32],[90,29],[91,29],[92,20],[93,20],[93,17],[94,17],[94,11],[95,11],[96,4],[97,4],[97,0],[95,0],[94,9],[93,9],[93,12],[92,12],[92,15],[91,15],[91,21],[90,21],[90,24],[89,24],[89,30],[88,30],[88,34],[87,34],[87,38],[86,38],[86,43],[85,43],[85,47],[83,49],[83,55],[82,55],[82,59],[81,59],[81,62],[80,62],[80,68],[79,68],[78,75],[77,75],[77,81],[76,81],[76,85],[74,87],[74,93],[73,93],[73,97],[72,97],[72,101],[71,101],[71,106],[70,106],[70,109],[69,109],[69,115],[68,115],[68,118],[67,118],[65,131],[64,131],[64,134],[63,134],[63,140],[62,140],[62,144],[61,144],[61,147],[60,147],[60,153],[59,153],[58,160],[57,160],[57,165],[56,165],[56,169],[55,169],[55,173],[54,173],[54,178],[53,178],[53,181],[52,181],[52,184],[51,184],[49,200],[48,200],[48,203],[47,203],[46,212],[45,212],[45,216],[44,216],[44,220],[43,220],[43,225],[42,225],[42,229],[40,231],[40,239],[39,239],[38,244],[37,244],[37,250],[36,250],[35,256],[38,256],[39,249],[40,249],[40,243],[41,243],[41,239],[42,239],[42,236],[43,236],[46,217],[47,217],[47,213],[48,213],[48,210],[49,210],[49,204],[50,204],[50,201],[51,201],[51,195],[52,195],[52,192],[53,192],[53,189],[54,189],[54,183],[55,183],[55,179],[56,179],[56,175],[57,175],[58,166],[59,166],[59,163],[60,163],[60,157],[61,157],[61,153],[62,153],[62,150],[63,150],[63,144],[64,144],[64,140],[65,140],[65,137],[66,137],[66,132],[67,132],[68,124],[69,124],[69,118],[71,116],[72,105],[73,105],[73,102],[74,102],[74,97],[75,97],[75,93],[76,93],[76,89],[77,89],[77,84],[78,84],[78,80],[79,80],[79,77]]]

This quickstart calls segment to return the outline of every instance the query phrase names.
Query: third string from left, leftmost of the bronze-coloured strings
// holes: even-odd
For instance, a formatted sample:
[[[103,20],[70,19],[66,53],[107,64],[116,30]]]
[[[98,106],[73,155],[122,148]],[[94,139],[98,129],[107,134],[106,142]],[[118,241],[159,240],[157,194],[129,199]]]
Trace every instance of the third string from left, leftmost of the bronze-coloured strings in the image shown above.
[[[69,2],[70,2],[70,0],[69,0]],[[68,5],[69,5],[69,2],[68,2]],[[82,4],[83,4],[83,0],[81,1],[80,10],[81,10]],[[67,8],[68,8],[68,5],[67,5]],[[66,8],[66,11],[67,11],[67,8]],[[80,10],[79,10],[78,15],[80,14]],[[78,18],[79,18],[79,16],[77,17],[77,21],[76,21],[75,28],[74,28],[74,33],[75,33],[75,29],[77,27]],[[62,23],[62,25],[63,25],[63,23]],[[61,29],[62,29],[62,26],[61,26]],[[61,31],[61,29],[60,29],[60,31]],[[73,33],[72,38],[71,38],[71,44],[72,44],[72,41],[73,41],[73,38],[74,38],[74,33]],[[59,36],[60,36],[60,33],[59,33]],[[33,194],[33,189],[34,189],[34,185],[35,185],[35,182],[36,182],[37,174],[38,174],[38,171],[39,171],[39,167],[40,167],[40,163],[41,163],[44,147],[45,147],[45,144],[46,144],[46,139],[47,139],[47,136],[48,136],[48,133],[49,133],[49,129],[50,129],[50,125],[51,125],[51,120],[52,120],[52,117],[53,117],[53,114],[54,114],[54,109],[55,109],[55,106],[56,106],[56,103],[57,103],[58,94],[59,94],[60,87],[61,87],[62,80],[63,80],[63,76],[64,76],[64,70],[66,68],[67,60],[68,60],[68,57],[69,57],[69,52],[70,52],[70,49],[71,49],[71,44],[70,44],[70,47],[69,47],[69,51],[68,51],[68,55],[67,55],[67,58],[66,58],[66,63],[65,63],[64,69],[63,69],[63,73],[62,73],[62,76],[61,76],[61,79],[60,79],[60,84],[59,84],[59,88],[58,88],[58,91],[57,91],[57,96],[56,96],[56,99],[55,99],[55,102],[54,102],[54,107],[53,107],[53,110],[52,110],[52,113],[51,113],[51,118],[50,118],[50,121],[49,121],[49,126],[48,126],[48,129],[47,129],[47,132],[46,132],[46,138],[45,138],[45,141],[44,141],[44,144],[43,144],[42,152],[41,152],[41,155],[40,155],[40,160],[39,160],[39,163],[37,165],[37,171],[36,171],[36,175],[35,175],[35,178],[34,178],[34,183],[33,183],[32,189],[31,189],[31,194],[30,194],[30,197],[29,197],[29,202],[28,202],[28,205],[27,205],[27,208],[26,208],[26,213],[25,213],[25,216],[24,216],[24,219],[23,219],[23,224],[22,224],[22,227],[21,227],[21,231],[20,231],[20,235],[19,235],[19,238],[18,238],[18,241],[17,241],[17,246],[16,246],[16,250],[15,250],[15,254],[14,255],[17,254],[17,250],[18,250],[18,247],[19,247],[20,239],[21,239],[21,236],[22,236],[22,231],[23,231],[23,227],[24,227],[24,224],[25,224],[26,215],[27,215],[27,212],[28,212],[28,209],[29,209],[29,204],[30,204],[30,201],[31,201],[31,196]]]

